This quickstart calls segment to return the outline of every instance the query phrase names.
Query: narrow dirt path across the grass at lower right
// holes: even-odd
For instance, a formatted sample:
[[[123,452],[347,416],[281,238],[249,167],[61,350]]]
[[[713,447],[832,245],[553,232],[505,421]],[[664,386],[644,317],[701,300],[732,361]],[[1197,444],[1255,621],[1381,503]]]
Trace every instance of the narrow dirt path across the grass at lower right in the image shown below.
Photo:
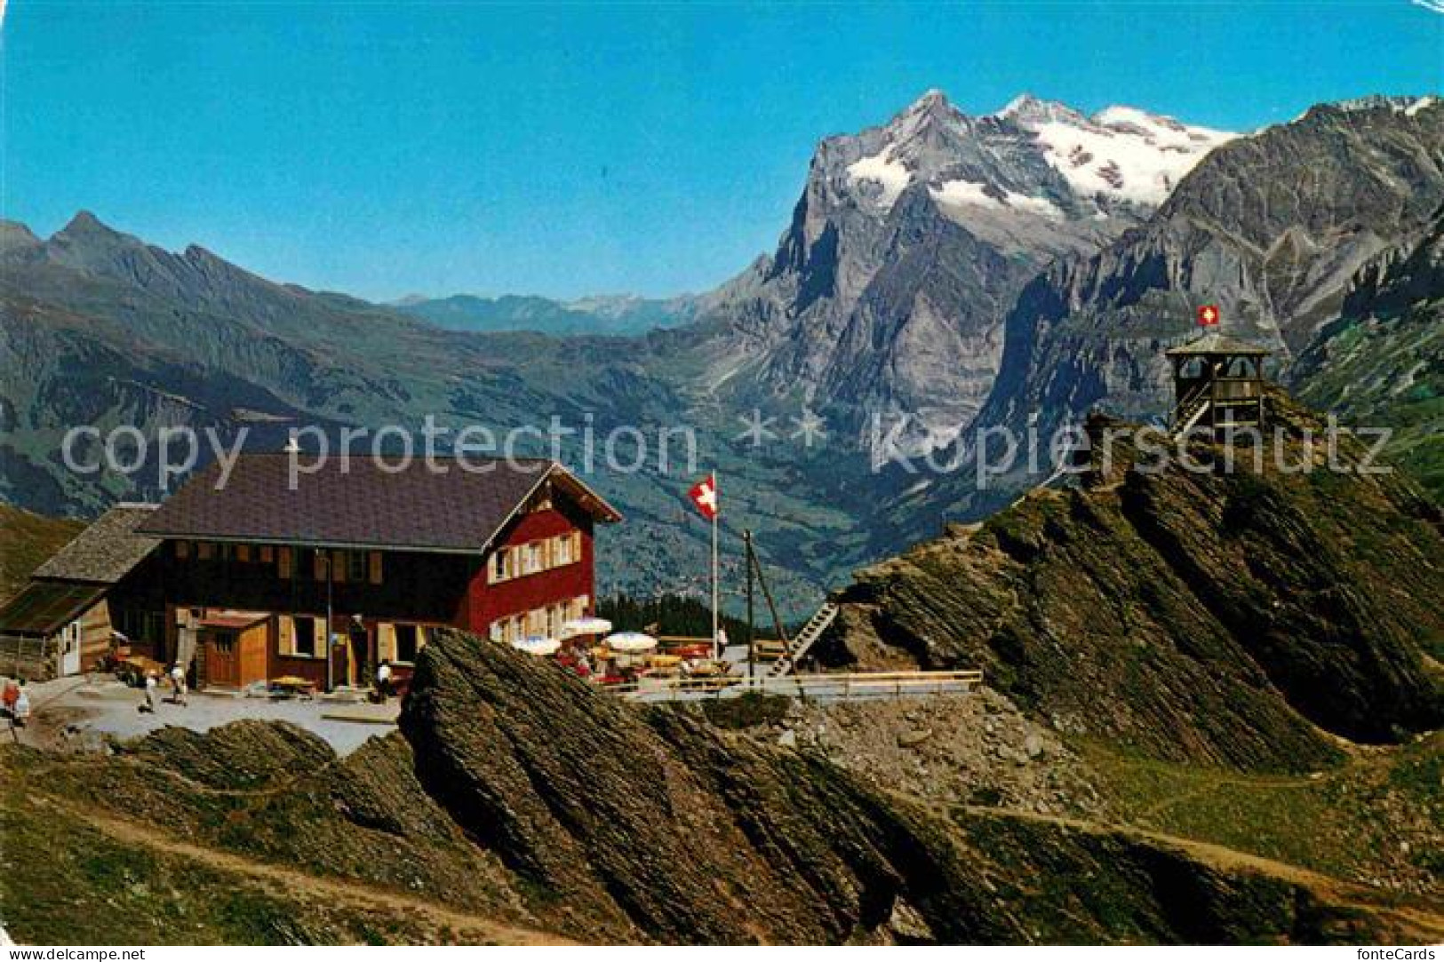
[[[1089,822],[1086,819],[1067,818],[1061,815],[1040,815],[1037,812],[1024,812],[1018,809],[991,809],[976,805],[957,805],[947,807],[966,812],[967,815],[1012,818],[1025,822],[1045,822],[1093,835],[1125,835],[1144,839],[1152,842],[1154,845],[1180,851],[1212,868],[1220,868],[1225,871],[1251,871],[1308,888],[1310,891],[1324,896],[1330,901],[1340,906],[1363,909],[1378,916],[1393,919],[1401,924],[1417,930],[1421,937],[1427,937],[1432,943],[1444,942],[1444,914],[1415,906],[1388,904],[1385,901],[1388,896],[1383,893],[1375,893],[1369,888],[1340,881],[1331,875],[1324,875],[1310,868],[1301,868],[1298,865],[1265,858],[1262,855],[1240,852],[1239,849],[1229,848],[1227,845],[1200,842],[1199,839],[1168,835],[1165,832],[1155,832],[1152,829],[1144,829],[1134,825]]]

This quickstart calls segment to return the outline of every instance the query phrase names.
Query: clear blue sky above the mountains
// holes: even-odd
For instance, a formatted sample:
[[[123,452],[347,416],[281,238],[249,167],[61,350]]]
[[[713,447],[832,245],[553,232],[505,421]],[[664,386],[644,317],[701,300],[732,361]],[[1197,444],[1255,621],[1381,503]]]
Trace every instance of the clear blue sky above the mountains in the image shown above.
[[[12,0],[0,212],[277,280],[674,293],[771,250],[816,142],[930,87],[1245,130],[1438,92],[1411,0],[498,6]]]

